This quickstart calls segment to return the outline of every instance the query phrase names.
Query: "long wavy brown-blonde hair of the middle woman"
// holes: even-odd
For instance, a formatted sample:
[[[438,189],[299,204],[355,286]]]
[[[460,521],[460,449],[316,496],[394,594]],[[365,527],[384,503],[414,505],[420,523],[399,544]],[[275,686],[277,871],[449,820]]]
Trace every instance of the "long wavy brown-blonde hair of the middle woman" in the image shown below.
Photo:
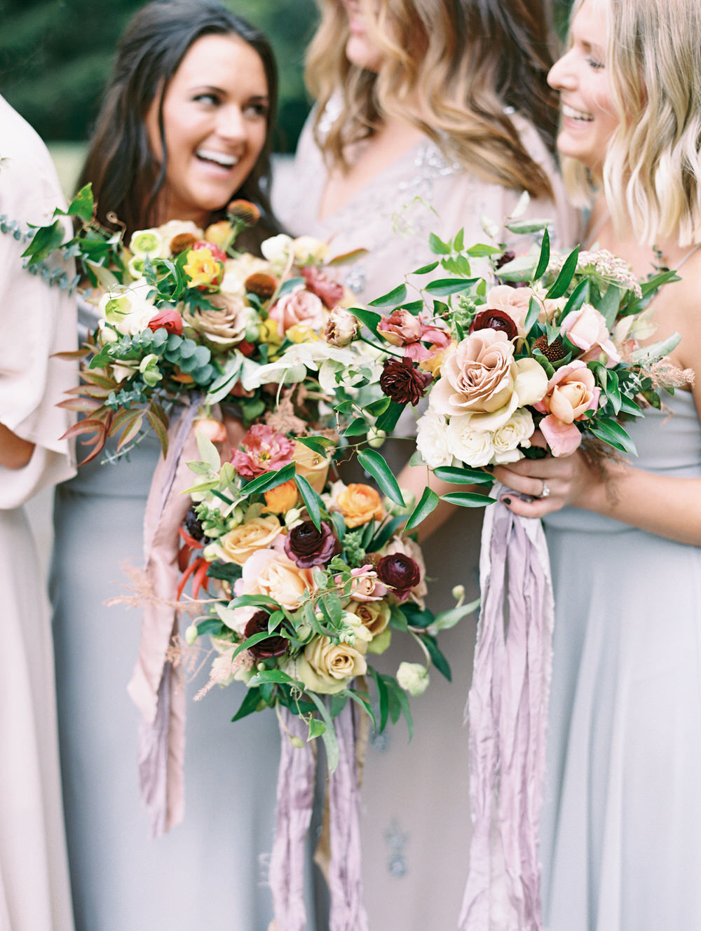
[[[317,2],[321,22],[306,78],[317,99],[315,138],[331,165],[347,168],[347,146],[398,117],[484,180],[552,196],[505,113],[525,115],[554,151],[557,103],[546,85],[552,59],[540,0],[361,0],[382,53],[377,74],[345,57],[341,0]],[[341,101],[341,112],[321,132],[331,98]]]

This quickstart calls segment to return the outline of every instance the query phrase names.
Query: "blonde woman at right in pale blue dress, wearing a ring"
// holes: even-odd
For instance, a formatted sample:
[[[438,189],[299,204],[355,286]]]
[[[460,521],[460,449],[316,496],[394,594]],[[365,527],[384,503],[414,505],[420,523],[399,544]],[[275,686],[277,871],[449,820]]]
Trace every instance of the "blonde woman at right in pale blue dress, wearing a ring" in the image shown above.
[[[543,825],[550,931],[701,927],[701,20],[696,0],[583,0],[549,75],[576,196],[693,370],[630,426],[639,458],[498,467],[534,495],[556,598]],[[680,382],[683,376],[680,376]]]

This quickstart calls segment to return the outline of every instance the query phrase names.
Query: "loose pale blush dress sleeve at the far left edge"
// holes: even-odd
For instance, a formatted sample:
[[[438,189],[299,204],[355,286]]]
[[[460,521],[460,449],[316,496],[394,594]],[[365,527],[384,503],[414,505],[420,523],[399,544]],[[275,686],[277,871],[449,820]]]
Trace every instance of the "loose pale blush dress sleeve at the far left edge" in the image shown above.
[[[55,170],[34,130],[2,103],[0,213],[46,223],[62,202]],[[75,471],[70,444],[60,439],[72,415],[56,407],[76,384],[74,363],[52,358],[75,348],[75,303],[23,268],[23,250],[14,236],[0,234],[0,422],[35,448],[27,466],[0,466],[0,508],[20,506]],[[72,275],[72,267],[65,270]]]

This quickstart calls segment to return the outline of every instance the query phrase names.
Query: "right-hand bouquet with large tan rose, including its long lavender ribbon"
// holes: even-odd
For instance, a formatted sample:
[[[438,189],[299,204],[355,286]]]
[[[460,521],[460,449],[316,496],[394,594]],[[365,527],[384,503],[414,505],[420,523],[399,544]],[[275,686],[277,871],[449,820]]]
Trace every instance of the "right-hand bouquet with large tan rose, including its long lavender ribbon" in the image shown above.
[[[525,201],[522,202],[525,204]],[[342,410],[346,432],[390,430],[407,406],[428,395],[417,427],[414,464],[458,485],[491,485],[485,467],[582,443],[589,456],[635,454],[625,423],[660,391],[687,380],[667,356],[675,335],[640,345],[654,332],[646,306],[674,272],[640,282],[605,250],[551,252],[546,223],[510,218],[515,234],[540,233],[517,257],[496,240],[465,248],[464,235],[431,237],[436,261],[370,308],[353,308],[384,354],[382,400]],[[492,236],[491,236],[492,237]],[[436,277],[438,274],[439,277]],[[376,312],[374,308],[379,308]],[[617,452],[616,452],[617,451]],[[480,553],[481,608],[470,720],[470,871],[459,927],[481,931],[497,912],[505,926],[542,928],[538,816],[545,772],[551,668],[552,586],[540,521],[523,519],[477,490],[442,495],[461,506],[492,504]],[[437,505],[426,487],[406,528]]]

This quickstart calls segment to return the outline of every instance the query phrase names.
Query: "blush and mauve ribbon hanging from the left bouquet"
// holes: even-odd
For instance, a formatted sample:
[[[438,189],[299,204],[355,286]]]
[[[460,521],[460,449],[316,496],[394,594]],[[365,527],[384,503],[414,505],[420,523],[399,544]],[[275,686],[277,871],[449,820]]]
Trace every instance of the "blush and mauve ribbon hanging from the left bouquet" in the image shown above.
[[[128,694],[142,712],[139,728],[139,780],[158,837],[182,820],[182,761],[185,743],[185,692],[180,669],[168,657],[178,618],[172,600],[178,584],[178,529],[190,506],[182,495],[192,484],[186,463],[198,458],[193,398],[169,427],[168,454],[161,456],[151,481],[143,518],[144,564],[153,598],[142,617],[139,658]]]

